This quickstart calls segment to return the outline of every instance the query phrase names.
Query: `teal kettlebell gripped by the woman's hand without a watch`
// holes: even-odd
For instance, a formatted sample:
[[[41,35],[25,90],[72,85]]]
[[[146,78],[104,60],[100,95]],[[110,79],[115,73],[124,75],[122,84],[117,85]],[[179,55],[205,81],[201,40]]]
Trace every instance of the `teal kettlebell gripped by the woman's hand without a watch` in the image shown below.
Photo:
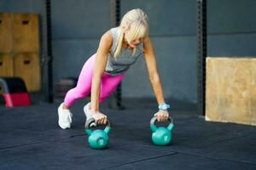
[[[87,122],[85,122],[84,125],[84,131],[86,134],[89,135],[88,143],[91,148],[93,149],[104,149],[108,146],[108,133],[111,130],[110,122],[107,122],[107,125],[104,130],[96,129],[92,130],[90,129],[90,124],[95,122],[94,118],[90,118]]]

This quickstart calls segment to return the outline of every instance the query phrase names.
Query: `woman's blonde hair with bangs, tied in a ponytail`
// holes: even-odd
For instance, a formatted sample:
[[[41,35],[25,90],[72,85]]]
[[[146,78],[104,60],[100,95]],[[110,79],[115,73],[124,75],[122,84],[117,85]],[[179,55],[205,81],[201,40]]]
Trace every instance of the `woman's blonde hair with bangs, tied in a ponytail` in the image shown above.
[[[127,29],[124,32],[124,28]],[[113,54],[117,58],[121,52],[124,38],[128,43],[136,41],[137,39],[148,36],[148,16],[140,8],[131,9],[122,18],[119,26],[117,48]],[[133,55],[136,53],[137,48],[133,48]]]

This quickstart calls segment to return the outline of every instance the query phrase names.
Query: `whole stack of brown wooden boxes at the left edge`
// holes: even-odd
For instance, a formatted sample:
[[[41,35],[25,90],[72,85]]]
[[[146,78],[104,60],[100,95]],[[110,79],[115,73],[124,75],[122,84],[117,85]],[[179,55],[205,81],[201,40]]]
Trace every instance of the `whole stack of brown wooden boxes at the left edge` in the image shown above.
[[[0,12],[0,77],[21,77],[29,92],[41,89],[38,14]]]

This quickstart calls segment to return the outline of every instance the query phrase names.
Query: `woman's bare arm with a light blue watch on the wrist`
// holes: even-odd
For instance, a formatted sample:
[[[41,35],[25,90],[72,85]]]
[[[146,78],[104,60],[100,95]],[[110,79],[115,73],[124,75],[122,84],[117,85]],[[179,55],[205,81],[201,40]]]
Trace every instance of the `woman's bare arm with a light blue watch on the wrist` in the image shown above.
[[[154,56],[154,48],[149,37],[146,37],[143,40],[143,45],[144,45],[143,53],[144,53],[146,65],[148,68],[148,76],[154,90],[155,98],[157,99],[158,105],[165,104],[163,89],[160,81],[160,76],[157,70],[156,59]],[[164,115],[165,116],[160,115],[158,117],[158,121],[166,121],[167,119],[166,114]]]

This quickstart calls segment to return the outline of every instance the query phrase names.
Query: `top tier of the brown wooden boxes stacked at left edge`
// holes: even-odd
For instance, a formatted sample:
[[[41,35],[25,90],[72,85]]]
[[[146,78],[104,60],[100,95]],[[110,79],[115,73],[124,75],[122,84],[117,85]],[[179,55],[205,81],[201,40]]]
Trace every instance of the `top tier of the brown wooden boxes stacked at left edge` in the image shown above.
[[[39,52],[38,14],[0,13],[0,53]]]

